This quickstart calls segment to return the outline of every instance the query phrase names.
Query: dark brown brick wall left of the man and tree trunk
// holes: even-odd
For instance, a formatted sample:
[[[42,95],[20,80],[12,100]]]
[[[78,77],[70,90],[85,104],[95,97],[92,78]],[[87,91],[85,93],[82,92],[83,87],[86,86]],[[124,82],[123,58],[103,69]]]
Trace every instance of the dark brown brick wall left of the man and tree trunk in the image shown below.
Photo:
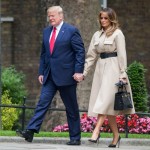
[[[14,64],[26,75],[30,99],[39,93],[38,64],[41,33],[46,24],[45,10],[38,0],[3,0],[2,17],[13,17],[13,22],[2,23],[2,65]]]

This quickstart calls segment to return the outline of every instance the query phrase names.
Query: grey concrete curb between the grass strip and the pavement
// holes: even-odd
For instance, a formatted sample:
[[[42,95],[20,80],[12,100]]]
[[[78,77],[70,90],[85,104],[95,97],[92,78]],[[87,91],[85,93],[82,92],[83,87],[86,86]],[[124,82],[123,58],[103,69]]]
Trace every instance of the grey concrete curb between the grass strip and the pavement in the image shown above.
[[[109,145],[111,143],[111,138],[100,138],[100,145]],[[32,143],[49,143],[49,144],[65,144],[69,141],[68,138],[52,138],[52,137],[34,137]],[[8,143],[27,143],[21,137],[15,136],[0,136],[0,142],[8,142]],[[91,143],[88,141],[88,138],[82,138],[81,143],[83,145],[95,145],[97,144]],[[131,139],[131,138],[122,138],[121,145],[124,146],[150,146],[150,139]]]

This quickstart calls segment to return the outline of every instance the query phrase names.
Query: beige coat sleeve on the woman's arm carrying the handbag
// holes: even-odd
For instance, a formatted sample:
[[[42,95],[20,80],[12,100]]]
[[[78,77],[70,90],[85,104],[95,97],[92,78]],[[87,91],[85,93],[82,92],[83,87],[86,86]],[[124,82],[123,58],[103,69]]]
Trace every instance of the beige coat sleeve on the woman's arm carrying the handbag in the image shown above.
[[[126,78],[127,73],[127,55],[126,55],[126,45],[125,45],[125,37],[123,33],[120,31],[116,38],[116,47],[117,47],[117,54],[118,54],[118,63],[120,68],[120,78]]]

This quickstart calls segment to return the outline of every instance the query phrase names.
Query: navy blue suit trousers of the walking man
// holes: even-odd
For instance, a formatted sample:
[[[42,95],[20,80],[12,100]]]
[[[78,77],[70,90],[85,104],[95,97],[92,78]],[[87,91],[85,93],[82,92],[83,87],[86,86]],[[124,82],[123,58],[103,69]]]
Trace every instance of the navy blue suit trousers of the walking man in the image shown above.
[[[51,77],[42,86],[40,99],[35,109],[34,116],[29,121],[27,129],[38,133],[45,117],[45,114],[51,105],[56,92],[59,91],[61,99],[66,108],[67,122],[69,126],[70,140],[80,140],[80,116],[76,96],[77,84],[69,86],[57,86]]]

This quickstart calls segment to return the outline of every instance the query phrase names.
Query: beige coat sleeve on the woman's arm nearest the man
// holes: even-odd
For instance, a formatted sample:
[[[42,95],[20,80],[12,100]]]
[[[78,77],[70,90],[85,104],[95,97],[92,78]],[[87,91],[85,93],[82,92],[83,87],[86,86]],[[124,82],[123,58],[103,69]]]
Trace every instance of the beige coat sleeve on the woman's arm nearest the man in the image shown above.
[[[95,37],[93,35],[87,55],[86,55],[85,64],[84,64],[84,72],[83,72],[84,76],[88,74],[88,72],[90,71],[91,67],[94,65],[96,58],[97,58],[97,51],[96,51],[95,46],[98,43],[96,43],[94,39]]]

